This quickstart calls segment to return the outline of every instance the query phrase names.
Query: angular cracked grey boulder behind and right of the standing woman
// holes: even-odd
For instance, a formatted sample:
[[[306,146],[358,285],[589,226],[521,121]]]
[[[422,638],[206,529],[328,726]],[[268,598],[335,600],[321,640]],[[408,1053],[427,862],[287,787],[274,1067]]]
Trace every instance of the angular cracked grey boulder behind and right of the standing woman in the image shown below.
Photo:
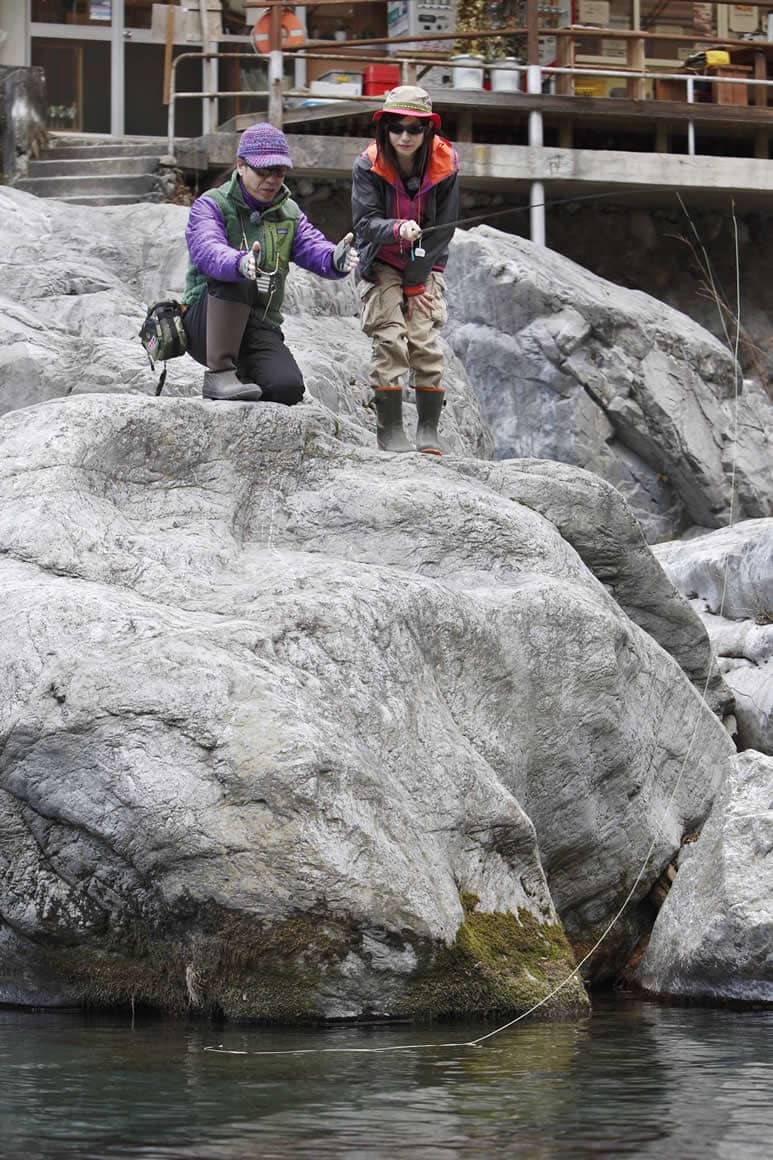
[[[490,226],[457,231],[448,336],[497,457],[587,467],[648,539],[773,514],[773,406],[685,314]]]

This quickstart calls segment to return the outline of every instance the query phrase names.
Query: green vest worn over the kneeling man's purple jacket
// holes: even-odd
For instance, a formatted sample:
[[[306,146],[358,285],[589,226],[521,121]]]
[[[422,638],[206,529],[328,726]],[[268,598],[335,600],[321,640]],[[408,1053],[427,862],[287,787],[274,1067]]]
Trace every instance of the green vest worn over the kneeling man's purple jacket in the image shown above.
[[[279,329],[282,325],[282,303],[284,300],[284,282],[290,268],[295,231],[301,217],[301,210],[290,197],[287,186],[276,195],[272,205],[263,210],[259,222],[251,220],[252,210],[241,196],[241,188],[236,172],[231,180],[217,189],[209,189],[203,197],[215,202],[225,224],[229,245],[234,249],[252,249],[253,241],[260,242],[260,268],[265,271],[276,271],[274,275],[274,293],[258,295],[252,307],[253,317],[265,326]],[[187,306],[198,302],[207,291],[207,275],[198,270],[188,259],[186,290],[182,300]]]

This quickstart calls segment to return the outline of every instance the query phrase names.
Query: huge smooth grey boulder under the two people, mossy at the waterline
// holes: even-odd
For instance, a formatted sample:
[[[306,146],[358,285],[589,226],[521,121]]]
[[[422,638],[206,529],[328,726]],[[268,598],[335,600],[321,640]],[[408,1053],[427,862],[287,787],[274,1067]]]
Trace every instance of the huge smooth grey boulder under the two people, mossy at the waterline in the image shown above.
[[[732,746],[611,595],[614,528],[604,583],[558,530],[587,477],[491,467],[315,403],[5,416],[0,998],[31,943],[28,1001],[522,1007],[571,970],[556,912],[587,945],[652,843],[620,966]]]

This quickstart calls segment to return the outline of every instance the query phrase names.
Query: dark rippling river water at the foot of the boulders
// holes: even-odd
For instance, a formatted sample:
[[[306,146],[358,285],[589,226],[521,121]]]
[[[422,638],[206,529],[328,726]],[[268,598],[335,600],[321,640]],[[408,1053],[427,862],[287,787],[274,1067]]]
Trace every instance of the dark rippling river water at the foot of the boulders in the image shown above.
[[[0,1157],[773,1155],[773,1012],[620,999],[443,1046],[494,1025],[132,1027],[0,1010]],[[417,1043],[429,1046],[317,1050]],[[257,1054],[301,1049],[315,1050]]]

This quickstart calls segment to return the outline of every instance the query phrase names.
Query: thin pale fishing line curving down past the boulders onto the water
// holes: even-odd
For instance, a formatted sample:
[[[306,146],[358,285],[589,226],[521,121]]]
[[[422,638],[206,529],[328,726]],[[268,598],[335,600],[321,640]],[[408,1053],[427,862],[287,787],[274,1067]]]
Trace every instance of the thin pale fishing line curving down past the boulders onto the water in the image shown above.
[[[679,197],[679,201],[681,202],[681,197]],[[685,209],[684,202],[681,202],[681,204],[682,204],[682,209]],[[734,406],[732,406],[732,422],[731,422],[732,465],[731,465],[731,472],[730,472],[730,522],[728,524],[729,528],[735,527],[736,464],[737,464],[737,451],[738,451],[738,440],[737,440],[737,435],[738,435],[738,394],[739,394],[739,391],[738,391],[738,379],[741,377],[741,368],[738,367],[738,351],[739,351],[739,343],[741,343],[741,260],[739,260],[739,252],[738,252],[738,223],[737,223],[737,219],[736,219],[735,201],[731,202],[731,206],[732,206],[732,209],[731,209],[731,216],[732,216],[734,240],[735,240],[735,259],[736,259],[736,319],[735,319],[735,321],[736,321],[736,335],[735,335],[735,342],[732,345],[732,351],[731,351],[732,355],[734,355],[734,360],[735,361],[734,361],[734,375],[732,375],[732,378],[734,378]],[[685,210],[685,213],[687,213],[686,210]],[[688,213],[687,213],[687,218],[689,219],[689,215]],[[689,220],[691,220],[691,225],[693,226],[693,230],[695,230],[695,227],[694,227],[694,225],[692,223],[692,219],[689,219]],[[698,234],[696,234],[696,237],[698,237]],[[714,292],[716,295],[717,291],[716,291],[715,285],[714,285],[714,276],[713,276],[711,270],[710,270],[710,263],[708,261],[708,254],[706,253],[706,249],[703,248],[703,245],[700,241],[700,239],[699,239],[699,244],[701,245],[701,248],[703,249],[703,254],[706,256],[706,262],[707,262],[707,269],[709,271],[709,277],[710,277],[710,281],[711,281],[711,287],[713,287]],[[717,298],[718,298],[718,295],[717,295]],[[727,334],[727,329],[725,329],[725,334]],[[728,345],[730,345],[729,336],[728,336]],[[272,512],[272,531],[273,531],[273,512]],[[728,571],[729,571],[729,557],[725,558],[724,574],[723,574],[723,579],[722,579],[722,597],[721,597],[721,601],[720,601],[720,610],[718,610],[718,615],[720,616],[722,615],[722,611],[724,609],[724,600],[725,600],[727,588],[728,588]],[[706,701],[706,694],[708,691],[708,684],[709,684],[709,681],[711,679],[711,673],[714,670],[714,665],[715,665],[714,653],[711,652],[710,658],[709,658],[708,670],[707,670],[707,674],[706,674],[706,683],[703,684],[703,691],[701,693],[701,701],[702,702]],[[687,768],[687,761],[689,760],[689,755],[692,753],[693,745],[695,744],[695,738],[698,735],[699,724],[700,724],[700,718],[696,716],[695,717],[695,724],[693,726],[692,737],[689,739],[689,745],[687,746],[687,751],[686,751],[685,756],[682,759],[681,767],[680,767],[679,773],[677,775],[677,780],[676,780],[676,782],[673,784],[673,788],[671,790],[671,793],[669,795],[669,798],[666,800],[666,804],[665,804],[665,807],[664,807],[664,811],[663,811],[664,818],[667,814],[669,809],[671,807],[671,804],[672,804],[673,799],[676,798],[677,792],[679,790],[679,786],[681,784],[681,778],[684,776],[685,769]],[[508,1020],[506,1023],[501,1023],[499,1027],[496,1027],[492,1031],[487,1031],[485,1035],[481,1035],[476,1039],[468,1039],[468,1041],[464,1041],[464,1042],[461,1042],[461,1043],[403,1043],[403,1044],[391,1044],[391,1045],[385,1046],[385,1047],[289,1047],[289,1049],[286,1047],[286,1049],[277,1049],[277,1050],[267,1049],[267,1050],[263,1050],[263,1051],[247,1051],[247,1050],[239,1050],[239,1049],[229,1049],[229,1047],[224,1047],[223,1044],[219,1044],[216,1047],[214,1047],[214,1046],[212,1047],[203,1047],[202,1050],[211,1052],[214,1054],[221,1054],[221,1056],[328,1056],[328,1054],[364,1054],[364,1056],[375,1056],[375,1054],[382,1054],[384,1052],[392,1052],[392,1051],[432,1051],[432,1050],[447,1050],[448,1047],[479,1047],[482,1043],[486,1042],[486,1039],[492,1039],[494,1036],[501,1035],[503,1031],[507,1031],[508,1028],[515,1027],[516,1023],[522,1022],[525,1018],[528,1018],[529,1015],[533,1015],[534,1012],[539,1010],[541,1007],[544,1007],[546,1003],[550,1002],[550,1000],[555,995],[557,995],[561,991],[563,991],[563,988],[565,986],[568,986],[571,983],[571,980],[577,974],[579,974],[579,972],[583,969],[583,966],[585,965],[585,963],[587,963],[587,960],[595,954],[595,951],[599,949],[599,947],[601,945],[601,943],[605,941],[605,938],[607,937],[607,935],[609,934],[609,931],[613,929],[613,927],[615,926],[615,923],[620,920],[620,918],[623,914],[626,907],[628,906],[628,904],[630,902],[631,898],[634,897],[636,887],[638,886],[640,882],[642,880],[642,878],[644,876],[644,872],[646,870],[648,863],[650,861],[650,857],[652,856],[652,851],[655,850],[655,847],[657,844],[658,839],[660,838],[662,832],[663,832],[662,827],[656,831],[656,834],[655,834],[652,841],[650,842],[649,849],[648,849],[646,854],[644,855],[644,861],[642,863],[641,870],[636,875],[636,878],[634,879],[634,884],[630,887],[630,890],[628,891],[628,893],[626,894],[626,898],[624,898],[622,905],[619,907],[617,912],[614,914],[614,916],[612,918],[612,920],[609,921],[609,923],[605,927],[604,931],[601,933],[601,935],[599,936],[599,938],[595,941],[595,943],[583,956],[583,958],[575,966],[575,969],[569,972],[569,974],[565,977],[565,979],[562,979],[562,981],[557,986],[555,986],[552,988],[552,991],[550,991],[547,995],[544,995],[542,999],[540,999],[539,1002],[533,1003],[532,1007],[529,1007],[527,1010],[522,1012],[520,1015],[516,1015],[515,1018]],[[354,1027],[356,1027],[356,1024],[354,1024]]]

